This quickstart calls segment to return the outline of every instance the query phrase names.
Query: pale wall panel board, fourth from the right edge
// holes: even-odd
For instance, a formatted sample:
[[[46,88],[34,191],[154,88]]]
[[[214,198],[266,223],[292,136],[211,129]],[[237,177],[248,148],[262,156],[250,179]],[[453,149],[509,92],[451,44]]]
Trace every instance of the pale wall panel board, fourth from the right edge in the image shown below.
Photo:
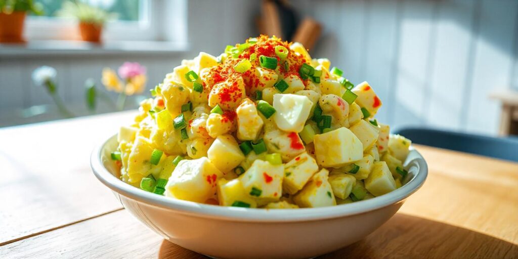
[[[373,1],[370,4],[370,19],[365,42],[365,68],[360,81],[368,81],[383,102],[376,117],[387,122],[389,92],[394,74],[391,67],[396,65],[395,43],[397,34],[397,1]]]

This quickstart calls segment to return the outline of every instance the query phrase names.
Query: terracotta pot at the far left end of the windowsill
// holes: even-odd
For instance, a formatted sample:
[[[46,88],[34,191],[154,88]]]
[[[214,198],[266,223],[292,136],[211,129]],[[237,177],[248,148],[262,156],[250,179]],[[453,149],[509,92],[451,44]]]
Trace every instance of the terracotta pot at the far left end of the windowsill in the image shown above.
[[[17,11],[11,14],[0,12],[0,42],[25,42],[23,39],[23,24],[25,12]]]

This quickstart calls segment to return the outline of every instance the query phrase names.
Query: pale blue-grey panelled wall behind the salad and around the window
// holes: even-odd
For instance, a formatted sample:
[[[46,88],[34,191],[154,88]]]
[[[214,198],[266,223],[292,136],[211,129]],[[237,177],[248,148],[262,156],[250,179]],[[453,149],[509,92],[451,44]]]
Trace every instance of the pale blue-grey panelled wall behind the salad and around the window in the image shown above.
[[[499,106],[487,95],[497,88],[518,89],[518,1],[292,3],[301,16],[324,24],[312,54],[328,57],[352,82],[369,81],[379,93],[384,102],[380,121],[496,134]],[[82,102],[85,78],[99,78],[102,67],[115,68],[126,60],[148,67],[152,87],[181,59],[201,50],[218,54],[225,45],[256,35],[253,18],[259,7],[254,0],[189,1],[188,53],[0,57],[0,116],[2,110],[50,102],[28,76],[44,64],[59,69],[69,103]],[[174,30],[174,24],[170,27]],[[7,124],[0,118],[0,126]]]

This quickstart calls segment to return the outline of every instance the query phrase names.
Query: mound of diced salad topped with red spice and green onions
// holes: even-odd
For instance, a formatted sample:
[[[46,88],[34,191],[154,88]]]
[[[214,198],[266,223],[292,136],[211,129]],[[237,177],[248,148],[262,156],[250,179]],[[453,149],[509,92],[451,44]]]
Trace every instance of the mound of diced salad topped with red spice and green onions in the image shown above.
[[[269,209],[347,204],[396,190],[411,141],[375,119],[382,102],[303,45],[260,36],[200,52],[123,126],[122,181],[197,203]]]

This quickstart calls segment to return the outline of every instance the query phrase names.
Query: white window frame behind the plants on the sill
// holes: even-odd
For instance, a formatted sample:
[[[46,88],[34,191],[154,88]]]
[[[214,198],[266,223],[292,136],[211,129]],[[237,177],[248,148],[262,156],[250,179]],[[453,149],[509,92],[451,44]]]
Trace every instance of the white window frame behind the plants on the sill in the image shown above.
[[[102,39],[107,41],[159,41],[164,21],[166,0],[141,0],[139,21],[109,21],[103,28]],[[184,0],[175,0],[182,4]],[[182,11],[178,8],[177,11]],[[175,15],[175,14],[173,14]],[[180,13],[178,13],[180,15]],[[27,17],[24,36],[27,40],[81,40],[78,22],[64,18]],[[186,19],[183,21],[186,26]],[[167,40],[181,41],[182,35],[167,35]]]

